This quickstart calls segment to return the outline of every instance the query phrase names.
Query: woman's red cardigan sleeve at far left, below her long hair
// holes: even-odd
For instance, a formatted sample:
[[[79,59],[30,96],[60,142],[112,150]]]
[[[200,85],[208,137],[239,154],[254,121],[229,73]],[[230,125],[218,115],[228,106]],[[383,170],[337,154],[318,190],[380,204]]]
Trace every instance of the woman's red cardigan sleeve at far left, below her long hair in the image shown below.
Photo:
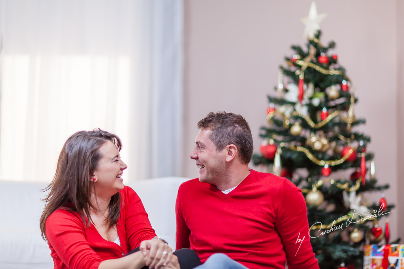
[[[45,224],[48,244],[69,269],[97,269],[103,259],[90,247],[84,235],[84,223],[72,212],[59,209]]]

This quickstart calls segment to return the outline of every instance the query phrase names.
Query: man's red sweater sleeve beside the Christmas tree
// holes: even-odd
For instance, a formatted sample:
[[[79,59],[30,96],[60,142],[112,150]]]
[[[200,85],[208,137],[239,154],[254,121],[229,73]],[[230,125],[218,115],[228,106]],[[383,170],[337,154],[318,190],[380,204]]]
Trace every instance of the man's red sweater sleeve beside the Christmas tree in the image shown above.
[[[310,244],[307,207],[301,190],[284,179],[276,201],[275,227],[278,230],[289,269],[319,269]]]

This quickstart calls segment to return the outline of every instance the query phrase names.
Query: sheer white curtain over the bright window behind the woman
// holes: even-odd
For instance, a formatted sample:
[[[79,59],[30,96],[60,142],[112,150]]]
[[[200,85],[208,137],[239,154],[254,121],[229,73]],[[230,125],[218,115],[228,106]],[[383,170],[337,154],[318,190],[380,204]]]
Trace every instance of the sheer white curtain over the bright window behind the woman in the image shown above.
[[[50,181],[65,140],[98,127],[126,182],[179,175],[182,0],[0,5],[0,180]]]

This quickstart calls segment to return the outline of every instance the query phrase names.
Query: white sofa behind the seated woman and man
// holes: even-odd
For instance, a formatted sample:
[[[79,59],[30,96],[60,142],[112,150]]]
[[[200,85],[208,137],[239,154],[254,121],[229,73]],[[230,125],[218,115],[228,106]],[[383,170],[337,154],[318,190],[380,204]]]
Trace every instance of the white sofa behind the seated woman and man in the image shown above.
[[[185,177],[161,177],[129,184],[140,196],[156,234],[175,249],[175,199]],[[42,240],[43,183],[0,181],[0,269],[51,269],[48,244]]]

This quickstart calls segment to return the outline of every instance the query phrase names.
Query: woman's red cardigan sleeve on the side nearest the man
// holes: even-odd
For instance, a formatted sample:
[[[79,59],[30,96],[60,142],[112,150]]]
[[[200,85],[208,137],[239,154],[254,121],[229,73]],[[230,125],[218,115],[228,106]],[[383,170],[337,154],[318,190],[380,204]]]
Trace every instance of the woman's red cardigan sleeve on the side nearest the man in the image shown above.
[[[133,250],[140,246],[142,241],[154,238],[156,233],[137,193],[130,187],[125,187],[125,191],[125,229],[128,243]]]

